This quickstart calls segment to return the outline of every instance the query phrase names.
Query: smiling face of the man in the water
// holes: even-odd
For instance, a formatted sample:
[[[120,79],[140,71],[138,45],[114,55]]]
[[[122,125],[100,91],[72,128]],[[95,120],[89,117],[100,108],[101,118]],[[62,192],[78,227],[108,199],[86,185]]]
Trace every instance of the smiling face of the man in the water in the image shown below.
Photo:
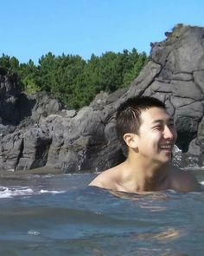
[[[140,118],[139,154],[147,161],[159,161],[161,163],[170,161],[177,138],[173,119],[163,108],[144,110]]]

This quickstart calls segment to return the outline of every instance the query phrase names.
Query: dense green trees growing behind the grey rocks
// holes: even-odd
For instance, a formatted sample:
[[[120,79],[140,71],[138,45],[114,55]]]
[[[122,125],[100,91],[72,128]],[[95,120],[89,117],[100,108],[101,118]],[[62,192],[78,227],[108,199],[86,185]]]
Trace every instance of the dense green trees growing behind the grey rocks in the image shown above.
[[[0,57],[0,68],[16,74],[22,89],[32,94],[46,90],[59,98],[67,108],[89,104],[100,91],[113,92],[128,87],[147,62],[137,49],[123,53],[105,52],[85,61],[80,56],[41,56],[38,65],[31,60],[20,63],[16,57]]]

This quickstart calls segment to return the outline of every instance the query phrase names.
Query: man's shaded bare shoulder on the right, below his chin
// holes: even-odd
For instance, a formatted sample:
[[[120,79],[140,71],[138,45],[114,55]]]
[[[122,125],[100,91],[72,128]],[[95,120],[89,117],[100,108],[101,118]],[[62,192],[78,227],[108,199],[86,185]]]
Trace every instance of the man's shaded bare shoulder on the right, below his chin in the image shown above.
[[[201,185],[194,175],[177,167],[172,169],[172,185],[176,191],[180,192],[201,191]]]

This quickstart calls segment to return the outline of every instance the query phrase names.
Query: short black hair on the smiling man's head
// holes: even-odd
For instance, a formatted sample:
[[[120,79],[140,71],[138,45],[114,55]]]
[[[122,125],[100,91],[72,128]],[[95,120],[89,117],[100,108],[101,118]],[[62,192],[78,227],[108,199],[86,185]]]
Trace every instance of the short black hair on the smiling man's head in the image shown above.
[[[163,102],[150,96],[134,96],[123,102],[119,106],[116,115],[120,141],[124,141],[123,137],[126,133],[138,134],[142,111],[154,107],[166,110]]]

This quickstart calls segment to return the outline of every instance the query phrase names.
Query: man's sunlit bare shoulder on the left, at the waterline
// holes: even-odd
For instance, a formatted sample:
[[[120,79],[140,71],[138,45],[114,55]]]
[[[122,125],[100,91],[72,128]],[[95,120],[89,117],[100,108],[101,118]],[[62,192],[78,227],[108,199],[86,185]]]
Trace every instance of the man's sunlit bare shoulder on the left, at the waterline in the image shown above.
[[[118,166],[112,167],[100,173],[94,180],[89,183],[89,186],[102,187],[114,190],[117,183],[118,168]]]

